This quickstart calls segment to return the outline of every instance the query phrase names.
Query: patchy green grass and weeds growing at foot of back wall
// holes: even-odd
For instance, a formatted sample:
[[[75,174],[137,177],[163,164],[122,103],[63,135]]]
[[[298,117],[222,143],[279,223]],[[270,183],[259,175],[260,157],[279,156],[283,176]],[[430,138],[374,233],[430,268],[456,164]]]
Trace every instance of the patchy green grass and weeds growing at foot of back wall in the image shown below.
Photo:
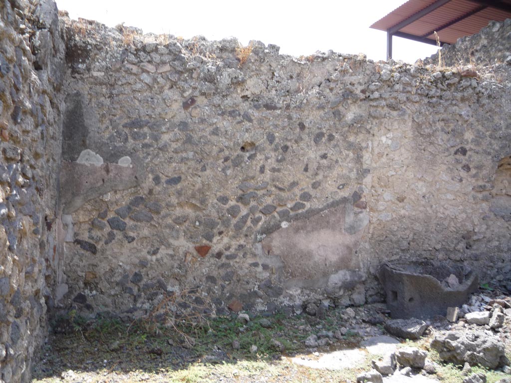
[[[85,321],[71,312],[54,323],[60,333],[52,334],[43,349],[33,383],[354,382],[359,373],[370,369],[375,355],[366,353],[356,367],[342,370],[312,369],[291,362],[295,355],[317,357],[310,354],[304,340],[320,331],[349,328],[343,318],[340,309],[329,310],[322,320],[305,314],[276,314],[244,323],[232,315],[200,324],[177,321],[162,326],[148,319],[126,323],[100,316]],[[381,332],[381,326],[375,330]],[[358,348],[362,339],[351,331],[339,338],[331,338],[331,344],[319,348],[319,353]],[[431,377],[461,383],[466,378],[461,366],[443,364],[429,350],[429,342],[423,338],[403,346],[428,350],[430,360],[438,364],[437,374]],[[473,372],[484,372],[488,383],[506,376],[478,368]]]

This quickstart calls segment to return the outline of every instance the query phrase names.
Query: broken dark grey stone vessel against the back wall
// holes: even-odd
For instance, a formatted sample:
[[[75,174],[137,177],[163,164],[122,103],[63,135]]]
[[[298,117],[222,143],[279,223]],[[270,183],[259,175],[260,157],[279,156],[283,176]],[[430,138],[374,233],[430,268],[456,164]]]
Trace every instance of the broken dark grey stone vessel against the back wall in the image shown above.
[[[378,277],[392,318],[445,316],[447,307],[461,306],[478,288],[472,270],[450,262],[386,263]]]

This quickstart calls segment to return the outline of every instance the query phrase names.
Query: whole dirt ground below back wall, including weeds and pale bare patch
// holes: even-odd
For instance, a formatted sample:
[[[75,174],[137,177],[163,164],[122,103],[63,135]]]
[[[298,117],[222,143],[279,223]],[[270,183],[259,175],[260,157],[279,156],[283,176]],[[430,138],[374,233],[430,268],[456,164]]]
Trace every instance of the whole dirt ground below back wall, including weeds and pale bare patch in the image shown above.
[[[462,366],[443,363],[430,350],[435,333],[467,326],[444,317],[430,321],[424,337],[390,337],[385,305],[330,308],[320,316],[286,315],[211,318],[199,325],[154,321],[125,322],[115,317],[85,321],[71,313],[54,323],[33,370],[32,383],[99,382],[355,382],[371,361],[402,346],[428,351],[434,373],[399,372],[384,381],[461,383]],[[509,321],[500,329],[507,350]],[[511,353],[509,354],[511,355]],[[489,383],[511,377],[484,372]],[[408,380],[407,380],[408,379]]]

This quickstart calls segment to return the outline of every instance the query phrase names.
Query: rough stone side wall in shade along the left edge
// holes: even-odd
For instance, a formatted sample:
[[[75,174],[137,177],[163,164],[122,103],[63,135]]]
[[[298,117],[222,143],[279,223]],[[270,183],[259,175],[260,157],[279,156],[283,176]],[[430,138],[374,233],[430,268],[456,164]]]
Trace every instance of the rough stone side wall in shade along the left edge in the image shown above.
[[[0,2],[0,382],[30,379],[54,296],[64,54],[53,2]]]

